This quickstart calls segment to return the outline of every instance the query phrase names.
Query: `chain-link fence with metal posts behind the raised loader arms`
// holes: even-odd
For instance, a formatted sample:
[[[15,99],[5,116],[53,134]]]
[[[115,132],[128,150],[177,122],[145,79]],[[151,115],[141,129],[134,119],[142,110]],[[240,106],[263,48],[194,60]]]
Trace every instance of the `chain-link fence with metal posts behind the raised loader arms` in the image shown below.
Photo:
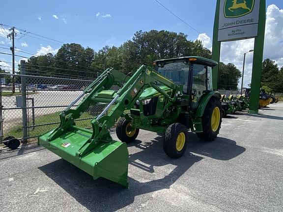
[[[10,74],[0,74],[0,79],[7,76],[12,77]],[[25,79],[26,86],[16,83],[14,94],[10,84],[1,84],[0,87],[1,141],[7,136],[18,139],[35,138],[56,128],[60,123],[59,112],[77,99],[92,82],[92,80],[27,75],[16,75],[16,77]],[[113,87],[113,89],[117,88]],[[76,125],[86,129],[91,128],[91,120],[105,107],[105,104],[90,106],[79,119],[75,120]],[[27,113],[26,120],[23,112]],[[27,137],[23,134],[25,126]]]

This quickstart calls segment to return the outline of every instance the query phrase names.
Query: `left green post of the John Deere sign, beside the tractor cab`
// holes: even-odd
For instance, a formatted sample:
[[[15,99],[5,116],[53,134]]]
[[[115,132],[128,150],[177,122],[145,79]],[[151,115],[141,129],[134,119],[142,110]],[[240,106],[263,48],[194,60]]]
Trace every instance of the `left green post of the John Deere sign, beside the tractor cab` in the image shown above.
[[[220,1],[217,0],[216,3],[216,12],[214,19],[213,27],[213,39],[212,39],[212,60],[220,62],[220,48],[221,42],[218,41],[218,28],[219,28],[219,10],[220,10]],[[218,78],[219,78],[219,64],[218,66],[213,67],[216,71],[212,72],[212,87],[214,90],[218,90]]]

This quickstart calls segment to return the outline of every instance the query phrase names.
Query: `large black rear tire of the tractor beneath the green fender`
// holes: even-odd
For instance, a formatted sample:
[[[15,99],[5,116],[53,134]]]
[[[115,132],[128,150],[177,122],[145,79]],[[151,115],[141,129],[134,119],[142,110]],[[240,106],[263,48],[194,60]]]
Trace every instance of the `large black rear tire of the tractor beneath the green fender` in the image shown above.
[[[215,120],[217,123],[219,121],[219,124],[215,124],[214,129],[212,127],[213,123],[212,121],[212,113],[217,113],[217,107],[219,109],[219,116],[218,120]],[[221,128],[221,122],[222,122],[222,114],[221,114],[221,103],[216,98],[211,98],[209,102],[207,103],[203,116],[201,117],[202,122],[202,132],[197,132],[198,138],[205,141],[212,141],[214,138],[217,137],[219,134],[220,128]]]

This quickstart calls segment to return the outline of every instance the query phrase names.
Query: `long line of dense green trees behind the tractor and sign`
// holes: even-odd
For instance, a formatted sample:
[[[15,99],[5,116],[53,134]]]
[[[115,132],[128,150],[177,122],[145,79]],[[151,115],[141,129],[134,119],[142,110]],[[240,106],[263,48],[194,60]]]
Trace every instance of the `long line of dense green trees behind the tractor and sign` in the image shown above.
[[[137,31],[131,40],[119,47],[105,46],[95,52],[80,44],[64,44],[56,54],[31,56],[26,63],[28,75],[95,79],[106,68],[123,73],[137,70],[142,64],[152,66],[154,60],[181,56],[211,58],[210,50],[199,40],[188,40],[184,33],[170,31]],[[269,59],[263,62],[262,86],[283,91],[283,68]],[[219,89],[237,89],[241,72],[232,63],[220,63]]]

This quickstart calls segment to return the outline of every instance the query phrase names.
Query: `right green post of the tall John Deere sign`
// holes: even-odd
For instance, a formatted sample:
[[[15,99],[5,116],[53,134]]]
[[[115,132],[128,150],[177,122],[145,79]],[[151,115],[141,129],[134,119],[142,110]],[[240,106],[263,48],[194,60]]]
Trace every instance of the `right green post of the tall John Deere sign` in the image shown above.
[[[253,73],[252,73],[252,83],[251,83],[251,96],[250,96],[250,110],[248,113],[257,114],[258,104],[259,104],[259,89],[260,89],[260,79],[262,71],[262,59],[263,59],[263,46],[264,46],[264,33],[265,33],[265,0],[260,0],[259,6],[259,25],[257,31],[257,37],[255,37],[254,46],[254,58],[253,58]]]

